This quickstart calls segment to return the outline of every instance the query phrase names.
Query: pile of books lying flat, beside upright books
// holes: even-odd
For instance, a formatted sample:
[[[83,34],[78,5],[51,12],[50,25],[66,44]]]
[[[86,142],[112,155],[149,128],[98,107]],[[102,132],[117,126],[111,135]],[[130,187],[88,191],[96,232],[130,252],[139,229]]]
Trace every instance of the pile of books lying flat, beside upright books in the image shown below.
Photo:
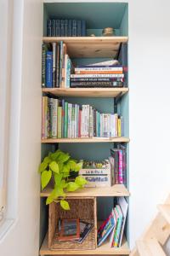
[[[114,60],[75,67],[74,71],[71,74],[71,88],[123,86],[123,67]]]

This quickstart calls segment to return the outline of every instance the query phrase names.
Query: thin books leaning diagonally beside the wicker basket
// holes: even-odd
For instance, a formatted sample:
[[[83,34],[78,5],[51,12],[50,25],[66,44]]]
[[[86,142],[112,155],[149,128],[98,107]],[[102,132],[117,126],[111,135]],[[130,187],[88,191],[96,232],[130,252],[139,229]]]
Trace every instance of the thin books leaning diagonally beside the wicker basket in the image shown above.
[[[98,230],[98,246],[106,239],[110,240],[111,247],[122,246],[122,236],[127,218],[127,201],[124,197],[118,197],[110,216]]]

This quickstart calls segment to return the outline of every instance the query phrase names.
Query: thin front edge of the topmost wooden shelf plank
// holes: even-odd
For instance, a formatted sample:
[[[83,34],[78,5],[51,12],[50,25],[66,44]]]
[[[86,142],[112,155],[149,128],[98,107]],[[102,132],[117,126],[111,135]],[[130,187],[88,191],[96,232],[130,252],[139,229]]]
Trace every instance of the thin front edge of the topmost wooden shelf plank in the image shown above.
[[[127,43],[128,37],[43,37],[44,43],[63,41],[65,43]]]

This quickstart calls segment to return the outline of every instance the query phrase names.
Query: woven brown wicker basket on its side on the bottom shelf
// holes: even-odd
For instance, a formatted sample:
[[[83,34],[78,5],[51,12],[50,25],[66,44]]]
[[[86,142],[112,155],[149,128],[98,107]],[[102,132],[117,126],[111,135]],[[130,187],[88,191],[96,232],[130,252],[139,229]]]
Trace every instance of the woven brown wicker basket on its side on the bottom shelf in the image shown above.
[[[49,205],[48,218],[48,247],[52,250],[92,250],[96,248],[97,242],[97,218],[96,218],[96,198],[71,197],[67,199],[71,210],[65,211],[59,207],[58,203]],[[58,241],[58,220],[59,218],[80,218],[94,224],[86,239],[79,244],[74,241]]]

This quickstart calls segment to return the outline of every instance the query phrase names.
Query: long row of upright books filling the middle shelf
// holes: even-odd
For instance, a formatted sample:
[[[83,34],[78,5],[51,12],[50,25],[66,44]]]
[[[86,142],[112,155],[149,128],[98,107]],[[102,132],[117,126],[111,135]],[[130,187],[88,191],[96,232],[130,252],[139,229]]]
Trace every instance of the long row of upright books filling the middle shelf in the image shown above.
[[[90,105],[42,96],[42,139],[122,137],[123,123],[117,113],[99,113]]]

